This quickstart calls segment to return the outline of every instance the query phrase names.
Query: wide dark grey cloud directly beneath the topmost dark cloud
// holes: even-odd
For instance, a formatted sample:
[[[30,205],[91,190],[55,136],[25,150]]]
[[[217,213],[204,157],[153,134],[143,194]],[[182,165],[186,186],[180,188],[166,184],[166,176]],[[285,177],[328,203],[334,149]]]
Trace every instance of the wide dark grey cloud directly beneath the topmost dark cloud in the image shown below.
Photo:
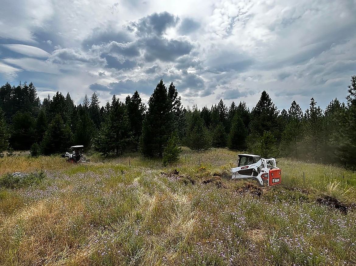
[[[193,45],[189,41],[167,40],[152,37],[142,40],[145,50],[145,59],[148,62],[159,59],[161,61],[174,61],[179,56],[189,54]]]

